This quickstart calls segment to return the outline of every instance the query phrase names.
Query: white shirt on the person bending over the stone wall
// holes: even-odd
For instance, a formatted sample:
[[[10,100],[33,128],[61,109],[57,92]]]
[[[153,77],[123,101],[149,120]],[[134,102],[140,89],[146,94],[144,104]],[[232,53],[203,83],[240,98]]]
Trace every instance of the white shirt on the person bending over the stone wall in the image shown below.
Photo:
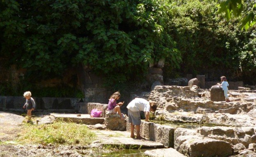
[[[142,98],[133,99],[128,105],[127,109],[131,111],[150,111],[149,101]]]

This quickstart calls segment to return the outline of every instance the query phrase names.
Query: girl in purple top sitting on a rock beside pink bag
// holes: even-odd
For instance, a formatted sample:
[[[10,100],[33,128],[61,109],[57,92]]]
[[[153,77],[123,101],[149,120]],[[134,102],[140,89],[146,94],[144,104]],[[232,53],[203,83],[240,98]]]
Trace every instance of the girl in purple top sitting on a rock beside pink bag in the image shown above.
[[[119,102],[117,104],[117,100],[121,97],[120,93],[117,91],[115,93],[113,93],[108,101],[108,105],[107,105],[107,110],[109,111],[109,113],[111,114],[116,114],[118,113],[121,120],[124,120],[123,115],[121,114],[121,109],[120,107],[123,105],[124,102]]]

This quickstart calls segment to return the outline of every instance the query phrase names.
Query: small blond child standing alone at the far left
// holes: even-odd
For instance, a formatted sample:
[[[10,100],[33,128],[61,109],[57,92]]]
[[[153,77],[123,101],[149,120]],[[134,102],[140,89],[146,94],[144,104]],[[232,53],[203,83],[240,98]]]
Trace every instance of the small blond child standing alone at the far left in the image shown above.
[[[28,116],[28,121],[31,120],[31,112],[35,109],[36,103],[34,102],[34,99],[31,97],[31,92],[26,91],[23,94],[24,98],[26,98],[26,103],[23,106],[23,109],[27,109],[27,116]]]

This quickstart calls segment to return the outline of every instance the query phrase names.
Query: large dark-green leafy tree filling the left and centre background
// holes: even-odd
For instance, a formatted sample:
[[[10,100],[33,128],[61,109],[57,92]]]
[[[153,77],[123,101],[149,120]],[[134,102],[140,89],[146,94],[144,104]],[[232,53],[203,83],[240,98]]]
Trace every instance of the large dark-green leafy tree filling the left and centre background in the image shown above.
[[[33,80],[62,77],[79,64],[125,82],[150,61],[181,56],[169,35],[167,1],[2,0],[1,51],[6,64]],[[115,76],[119,73],[118,77]]]

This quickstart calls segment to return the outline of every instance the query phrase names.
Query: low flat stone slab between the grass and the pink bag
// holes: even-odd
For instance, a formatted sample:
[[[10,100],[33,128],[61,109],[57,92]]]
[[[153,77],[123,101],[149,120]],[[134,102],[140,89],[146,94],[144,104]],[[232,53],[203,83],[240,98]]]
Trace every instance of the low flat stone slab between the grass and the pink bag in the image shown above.
[[[75,122],[82,124],[102,124],[104,122],[104,118],[94,118],[90,117],[89,114],[66,114],[66,113],[51,113],[51,116],[54,116],[55,119],[61,118],[66,122]]]

